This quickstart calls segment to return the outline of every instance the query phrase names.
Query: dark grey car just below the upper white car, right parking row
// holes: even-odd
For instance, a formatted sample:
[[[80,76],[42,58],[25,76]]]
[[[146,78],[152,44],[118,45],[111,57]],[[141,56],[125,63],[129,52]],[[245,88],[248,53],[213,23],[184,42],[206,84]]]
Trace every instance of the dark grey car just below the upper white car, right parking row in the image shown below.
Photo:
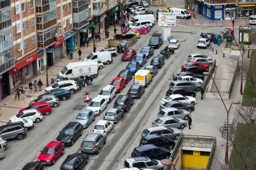
[[[169,89],[175,88],[175,87],[187,89],[189,91],[197,91],[198,92],[202,88],[202,84],[201,83],[193,83],[193,82],[187,81],[187,80],[171,81],[171,83],[169,84]]]

